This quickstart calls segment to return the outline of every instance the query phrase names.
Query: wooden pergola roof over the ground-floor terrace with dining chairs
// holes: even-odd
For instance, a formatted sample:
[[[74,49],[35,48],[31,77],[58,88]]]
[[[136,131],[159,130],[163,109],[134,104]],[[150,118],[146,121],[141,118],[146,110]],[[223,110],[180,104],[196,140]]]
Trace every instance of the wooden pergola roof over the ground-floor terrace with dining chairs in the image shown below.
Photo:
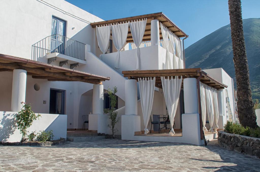
[[[185,78],[199,78],[199,80],[211,87],[216,89],[227,88],[225,84],[219,82],[215,78],[211,77],[206,72],[202,71],[201,68],[190,68],[190,69],[165,69],[165,70],[140,70],[140,71],[122,71],[124,77],[128,79],[136,79],[143,77],[156,77],[155,86],[162,88],[160,77],[170,77],[170,76],[182,76]],[[183,84],[182,84],[183,88]]]

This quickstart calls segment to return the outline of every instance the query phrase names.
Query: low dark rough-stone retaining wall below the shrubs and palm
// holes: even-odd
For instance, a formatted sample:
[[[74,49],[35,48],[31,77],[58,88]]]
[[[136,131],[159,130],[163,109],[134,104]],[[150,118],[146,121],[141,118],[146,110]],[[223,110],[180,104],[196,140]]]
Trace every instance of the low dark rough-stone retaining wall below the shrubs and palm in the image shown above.
[[[218,144],[223,148],[260,158],[260,138],[218,132]]]

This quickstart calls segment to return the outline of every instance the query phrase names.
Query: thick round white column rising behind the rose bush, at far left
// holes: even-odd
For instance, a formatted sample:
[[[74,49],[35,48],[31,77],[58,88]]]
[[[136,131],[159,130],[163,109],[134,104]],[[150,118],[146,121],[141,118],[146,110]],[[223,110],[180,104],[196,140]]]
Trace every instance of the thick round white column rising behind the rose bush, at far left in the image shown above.
[[[12,83],[11,111],[18,112],[22,108],[21,102],[25,102],[27,71],[14,69]]]

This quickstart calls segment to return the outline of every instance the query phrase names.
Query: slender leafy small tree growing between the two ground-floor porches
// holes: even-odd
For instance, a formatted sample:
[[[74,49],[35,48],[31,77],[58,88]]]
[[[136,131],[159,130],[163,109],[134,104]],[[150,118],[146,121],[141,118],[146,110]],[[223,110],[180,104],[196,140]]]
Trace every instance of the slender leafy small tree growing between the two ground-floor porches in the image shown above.
[[[117,88],[116,86],[113,87],[113,90],[111,90],[110,88],[107,89],[108,91],[108,95],[109,95],[109,99],[110,99],[110,109],[104,109],[104,113],[108,113],[109,114],[109,119],[110,119],[110,124],[108,125],[108,127],[112,130],[112,133],[114,135],[114,133],[118,132],[118,129],[115,128],[115,124],[118,123],[119,118],[117,117],[117,113],[115,106],[117,103],[116,100],[116,93],[117,93]]]

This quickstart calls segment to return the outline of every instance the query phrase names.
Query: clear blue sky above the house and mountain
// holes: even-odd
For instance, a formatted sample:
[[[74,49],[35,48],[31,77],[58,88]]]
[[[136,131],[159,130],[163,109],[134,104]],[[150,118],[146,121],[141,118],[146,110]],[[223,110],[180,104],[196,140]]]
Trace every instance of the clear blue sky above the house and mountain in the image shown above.
[[[66,1],[103,20],[163,12],[189,35],[185,48],[230,22],[228,0]],[[242,15],[243,18],[260,18],[260,0],[242,0]]]

